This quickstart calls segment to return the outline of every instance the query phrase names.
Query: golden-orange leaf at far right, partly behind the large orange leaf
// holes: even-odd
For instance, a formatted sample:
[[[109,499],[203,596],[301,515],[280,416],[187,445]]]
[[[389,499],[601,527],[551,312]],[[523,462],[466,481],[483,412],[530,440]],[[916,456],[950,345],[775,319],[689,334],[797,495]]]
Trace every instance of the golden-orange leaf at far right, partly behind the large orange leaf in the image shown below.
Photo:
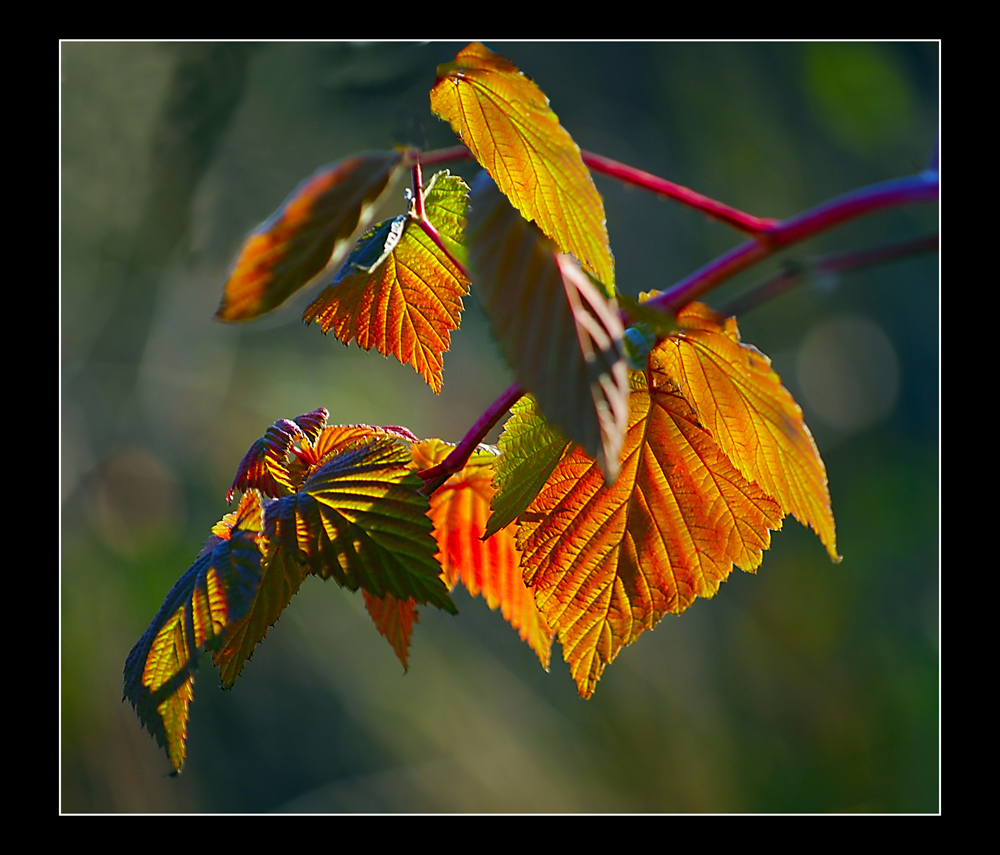
[[[677,323],[653,351],[654,369],[680,389],[740,473],[812,526],[839,561],[826,467],[771,360],[740,341],[734,318],[700,303],[679,312]]]

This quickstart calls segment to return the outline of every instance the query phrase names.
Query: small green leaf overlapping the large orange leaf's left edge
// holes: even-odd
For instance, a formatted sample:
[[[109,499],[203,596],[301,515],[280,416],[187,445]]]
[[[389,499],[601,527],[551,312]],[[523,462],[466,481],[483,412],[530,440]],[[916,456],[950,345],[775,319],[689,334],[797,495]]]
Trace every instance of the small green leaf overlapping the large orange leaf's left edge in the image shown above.
[[[525,395],[510,408],[510,413],[500,434],[500,456],[493,465],[496,492],[490,500],[493,513],[483,537],[492,537],[517,519],[538,495],[570,444],[563,433],[545,421],[533,396]]]

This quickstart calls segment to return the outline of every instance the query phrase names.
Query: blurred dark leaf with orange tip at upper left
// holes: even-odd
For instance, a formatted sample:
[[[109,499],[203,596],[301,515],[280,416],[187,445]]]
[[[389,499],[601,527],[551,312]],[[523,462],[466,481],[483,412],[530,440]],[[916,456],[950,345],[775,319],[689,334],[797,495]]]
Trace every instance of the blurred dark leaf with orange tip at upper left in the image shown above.
[[[324,166],[299,184],[244,241],[215,316],[256,318],[336,261],[355,231],[371,221],[402,160],[399,151],[359,154]]]

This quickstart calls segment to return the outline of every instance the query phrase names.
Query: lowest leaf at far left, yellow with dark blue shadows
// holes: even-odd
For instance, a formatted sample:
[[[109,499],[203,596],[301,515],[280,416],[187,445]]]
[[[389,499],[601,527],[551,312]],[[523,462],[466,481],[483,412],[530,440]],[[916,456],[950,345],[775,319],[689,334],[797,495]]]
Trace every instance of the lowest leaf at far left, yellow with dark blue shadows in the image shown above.
[[[260,581],[260,528],[260,497],[248,492],[237,512],[213,529],[125,661],[125,697],[167,750],[176,772],[184,765],[196,657],[219,644],[253,602]]]

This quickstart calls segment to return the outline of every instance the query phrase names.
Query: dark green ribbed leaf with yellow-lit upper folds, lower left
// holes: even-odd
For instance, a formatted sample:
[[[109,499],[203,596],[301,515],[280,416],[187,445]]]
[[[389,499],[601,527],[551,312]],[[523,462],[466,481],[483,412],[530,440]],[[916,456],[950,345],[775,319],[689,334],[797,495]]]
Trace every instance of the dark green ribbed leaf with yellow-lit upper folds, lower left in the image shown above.
[[[268,509],[269,548],[352,591],[455,612],[434,557],[430,504],[409,464],[409,451],[391,435],[363,437],[326,455],[298,492]]]

